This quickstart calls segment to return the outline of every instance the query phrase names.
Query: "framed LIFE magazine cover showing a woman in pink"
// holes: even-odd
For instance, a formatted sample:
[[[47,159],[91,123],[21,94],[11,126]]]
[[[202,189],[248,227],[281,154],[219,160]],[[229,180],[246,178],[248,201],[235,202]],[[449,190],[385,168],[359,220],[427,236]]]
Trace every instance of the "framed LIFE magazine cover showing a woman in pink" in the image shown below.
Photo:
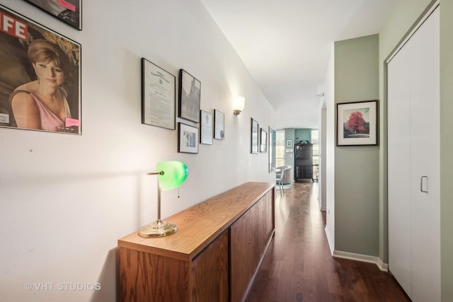
[[[0,19],[0,127],[81,134],[81,45],[4,6]]]

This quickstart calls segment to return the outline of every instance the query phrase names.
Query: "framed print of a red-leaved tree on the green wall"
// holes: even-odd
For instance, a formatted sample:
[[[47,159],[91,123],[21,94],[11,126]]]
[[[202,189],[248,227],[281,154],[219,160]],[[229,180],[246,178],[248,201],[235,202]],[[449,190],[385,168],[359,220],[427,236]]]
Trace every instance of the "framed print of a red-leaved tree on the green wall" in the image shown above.
[[[337,146],[377,146],[377,100],[337,104]]]

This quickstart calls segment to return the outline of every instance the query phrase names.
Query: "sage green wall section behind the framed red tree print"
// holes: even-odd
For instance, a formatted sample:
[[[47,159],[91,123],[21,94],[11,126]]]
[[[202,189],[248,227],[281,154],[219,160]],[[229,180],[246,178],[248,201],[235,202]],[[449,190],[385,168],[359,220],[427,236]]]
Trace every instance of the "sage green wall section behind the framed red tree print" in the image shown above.
[[[335,42],[334,56],[336,104],[379,98],[378,35]],[[335,250],[379,255],[379,146],[335,148]]]

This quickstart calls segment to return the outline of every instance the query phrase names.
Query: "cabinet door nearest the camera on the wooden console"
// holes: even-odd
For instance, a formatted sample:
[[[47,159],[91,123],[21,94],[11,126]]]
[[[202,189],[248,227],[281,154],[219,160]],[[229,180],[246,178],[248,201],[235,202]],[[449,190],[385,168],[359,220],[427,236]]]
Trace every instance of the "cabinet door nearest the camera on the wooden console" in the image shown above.
[[[229,232],[225,231],[192,262],[192,301],[229,301]]]

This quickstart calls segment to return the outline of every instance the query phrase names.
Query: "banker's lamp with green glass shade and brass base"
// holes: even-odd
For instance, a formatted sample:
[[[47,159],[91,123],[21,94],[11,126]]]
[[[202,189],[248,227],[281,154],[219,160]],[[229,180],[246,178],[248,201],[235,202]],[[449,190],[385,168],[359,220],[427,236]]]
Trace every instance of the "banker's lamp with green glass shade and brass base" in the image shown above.
[[[161,190],[176,189],[183,184],[188,176],[188,168],[182,161],[161,161],[157,163],[158,172],[147,173],[157,176],[157,220],[149,223],[139,231],[139,236],[152,238],[163,237],[175,233],[176,224],[161,220]]]

